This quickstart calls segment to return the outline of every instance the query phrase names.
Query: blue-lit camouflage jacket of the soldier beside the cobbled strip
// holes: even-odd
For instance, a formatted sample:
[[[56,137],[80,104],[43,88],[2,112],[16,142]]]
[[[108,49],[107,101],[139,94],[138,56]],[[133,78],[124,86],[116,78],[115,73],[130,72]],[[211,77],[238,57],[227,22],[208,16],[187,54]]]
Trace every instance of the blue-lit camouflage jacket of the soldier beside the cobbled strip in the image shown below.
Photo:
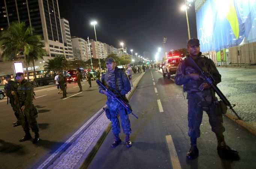
[[[125,98],[125,94],[127,94],[131,90],[131,84],[127,75],[125,74],[125,72],[123,72],[121,69],[118,69],[117,67],[115,67],[114,73],[107,71],[101,77],[101,82],[115,94],[119,93],[123,98]],[[99,93],[102,93],[102,90],[104,90],[104,88],[99,86]],[[116,110],[117,108],[121,107],[119,103],[115,99],[112,99],[110,96],[108,96],[107,99],[108,100],[106,104],[108,105],[109,109]]]

